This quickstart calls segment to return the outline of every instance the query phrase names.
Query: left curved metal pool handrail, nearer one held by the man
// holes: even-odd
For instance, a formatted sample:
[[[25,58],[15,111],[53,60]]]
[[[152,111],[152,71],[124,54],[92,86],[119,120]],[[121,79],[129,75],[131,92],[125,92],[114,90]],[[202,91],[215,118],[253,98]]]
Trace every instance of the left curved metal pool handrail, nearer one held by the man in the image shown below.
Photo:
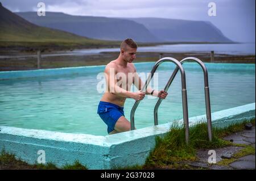
[[[151,74],[148,76],[147,78],[147,81],[146,83],[143,85],[142,87],[142,90],[147,90],[147,86],[148,86],[148,83],[151,81],[156,69],[158,69],[158,66],[160,64],[162,64],[163,62],[174,62],[174,64],[176,64],[176,69],[177,70],[180,70],[180,73],[181,73],[181,86],[182,86],[182,103],[183,103],[183,121],[184,121],[184,127],[185,127],[185,141],[186,143],[188,144],[189,142],[189,125],[188,125],[188,103],[187,103],[187,90],[186,90],[186,81],[185,81],[185,71],[182,67],[182,65],[180,64],[180,62],[178,60],[176,60],[175,58],[171,58],[171,57],[164,57],[164,58],[161,58],[160,60],[158,60],[154,67],[152,68],[151,70]],[[175,69],[175,70],[176,70]],[[172,73],[173,75],[174,73]],[[176,75],[176,74],[175,74]],[[168,83],[170,83],[170,80],[168,81]],[[167,83],[167,84],[168,84]],[[170,85],[169,85],[170,86]],[[169,86],[166,86],[166,88],[168,89]],[[164,89],[165,91],[167,91],[167,89]],[[135,126],[134,126],[134,113],[135,113],[135,110],[137,109],[138,107],[138,104],[139,104],[140,100],[137,100],[135,103],[134,103],[134,106],[133,108],[131,109],[131,115],[130,115],[130,121],[131,121],[131,130],[134,130],[135,129]],[[157,112],[156,112],[157,113]]]

